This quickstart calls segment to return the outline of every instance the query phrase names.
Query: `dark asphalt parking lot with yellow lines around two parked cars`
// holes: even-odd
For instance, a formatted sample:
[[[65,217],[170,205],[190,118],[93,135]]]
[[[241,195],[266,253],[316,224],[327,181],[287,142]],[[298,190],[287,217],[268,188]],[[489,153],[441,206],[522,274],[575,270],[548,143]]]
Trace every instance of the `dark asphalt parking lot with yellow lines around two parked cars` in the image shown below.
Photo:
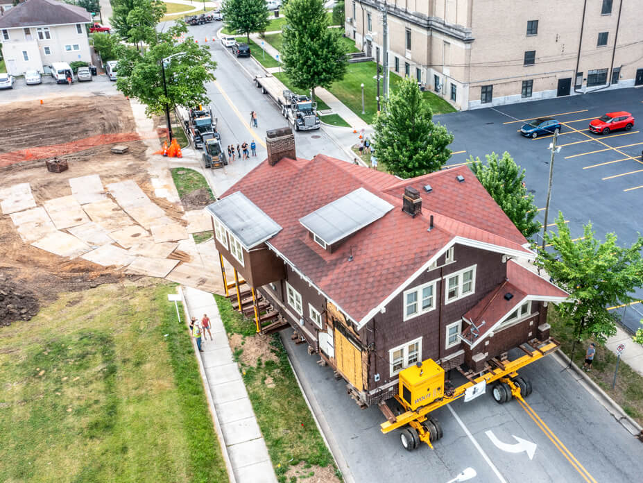
[[[629,130],[608,135],[590,133],[588,124],[606,112],[628,111],[636,119]],[[534,195],[538,219],[544,221],[549,177],[551,136],[535,139],[520,135],[520,127],[537,117],[553,117],[563,125],[558,135],[560,153],[554,161],[554,183],[547,224],[550,230],[558,211],[569,223],[572,237],[583,236],[583,223],[592,221],[596,236],[615,232],[621,244],[631,244],[643,226],[643,90],[619,89],[456,112],[436,116],[454,134],[454,154],[447,166],[469,157],[508,151],[526,169],[526,187]],[[643,289],[637,294],[643,298]],[[638,318],[625,321],[638,328]]]

